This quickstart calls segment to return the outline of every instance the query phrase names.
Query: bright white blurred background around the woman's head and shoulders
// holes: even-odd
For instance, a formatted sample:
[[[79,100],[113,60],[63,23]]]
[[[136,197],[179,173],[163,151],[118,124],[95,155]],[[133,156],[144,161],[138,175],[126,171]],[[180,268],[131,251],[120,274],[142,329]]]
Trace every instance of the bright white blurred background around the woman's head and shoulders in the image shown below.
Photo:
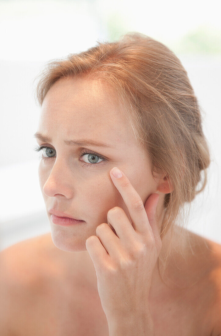
[[[0,249],[50,232],[38,181],[33,134],[40,108],[33,80],[51,59],[113,41],[129,31],[167,45],[181,60],[199,100],[212,162],[205,191],[192,203],[189,230],[221,243],[218,1],[136,2],[0,0]]]

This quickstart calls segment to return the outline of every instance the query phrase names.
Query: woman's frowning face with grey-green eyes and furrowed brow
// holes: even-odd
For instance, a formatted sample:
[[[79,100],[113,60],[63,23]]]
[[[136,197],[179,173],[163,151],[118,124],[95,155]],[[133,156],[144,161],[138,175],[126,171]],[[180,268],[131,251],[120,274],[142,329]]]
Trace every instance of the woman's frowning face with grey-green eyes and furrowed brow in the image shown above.
[[[99,80],[57,81],[47,92],[38,132],[51,140],[37,140],[48,146],[39,163],[39,182],[51,226],[54,245],[64,251],[85,251],[86,239],[96,236],[96,228],[107,223],[108,211],[127,207],[114,186],[110,170],[118,167],[128,177],[143,200],[157,191],[147,154],[136,144],[135,135],[115,99],[114,89]],[[97,144],[68,145],[64,140],[97,141]],[[83,152],[96,153],[105,159]],[[51,208],[84,220],[79,224],[54,224]],[[131,220],[130,220],[131,221]]]

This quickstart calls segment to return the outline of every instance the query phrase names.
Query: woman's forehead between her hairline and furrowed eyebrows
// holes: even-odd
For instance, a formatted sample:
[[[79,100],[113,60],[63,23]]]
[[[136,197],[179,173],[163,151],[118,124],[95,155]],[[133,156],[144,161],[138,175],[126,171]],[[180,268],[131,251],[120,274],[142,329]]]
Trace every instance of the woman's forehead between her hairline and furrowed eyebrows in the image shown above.
[[[136,141],[114,88],[100,80],[63,78],[47,92],[41,108],[39,130],[56,136],[103,141]]]

